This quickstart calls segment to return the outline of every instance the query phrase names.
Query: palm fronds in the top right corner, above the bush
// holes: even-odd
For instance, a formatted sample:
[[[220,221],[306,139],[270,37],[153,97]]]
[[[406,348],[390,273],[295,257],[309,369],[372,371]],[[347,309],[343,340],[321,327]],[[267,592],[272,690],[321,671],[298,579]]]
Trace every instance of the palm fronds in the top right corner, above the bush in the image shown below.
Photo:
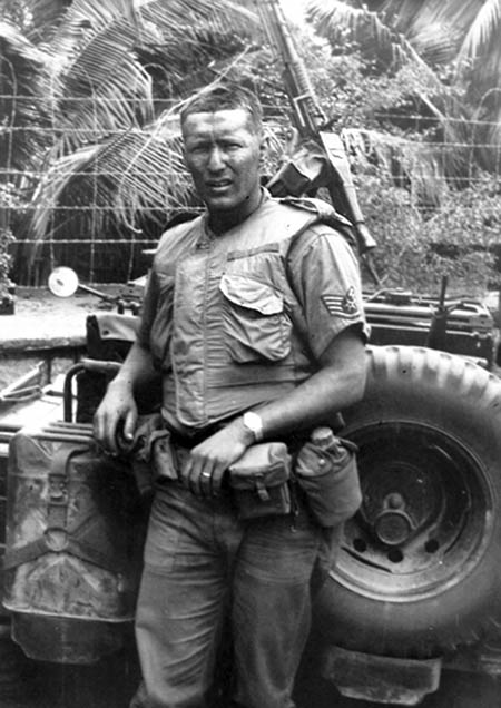
[[[433,119],[426,140],[435,147],[394,139],[392,147],[413,155],[407,163],[421,165],[421,174],[468,184],[479,168],[499,169],[501,0],[311,0],[308,17],[335,51],[355,45],[377,72],[414,69],[413,128],[424,132]],[[371,137],[387,147],[384,136]]]

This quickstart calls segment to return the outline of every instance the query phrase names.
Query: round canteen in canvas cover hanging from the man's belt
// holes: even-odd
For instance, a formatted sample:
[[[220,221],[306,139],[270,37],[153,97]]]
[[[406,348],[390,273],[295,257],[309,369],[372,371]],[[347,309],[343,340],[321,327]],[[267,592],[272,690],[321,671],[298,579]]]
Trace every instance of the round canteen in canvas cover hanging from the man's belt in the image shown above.
[[[362,503],[357,448],[330,432],[327,440],[315,441],[314,431],[295,462],[295,479],[305,494],[310,512],[321,527],[326,528],[353,517]]]

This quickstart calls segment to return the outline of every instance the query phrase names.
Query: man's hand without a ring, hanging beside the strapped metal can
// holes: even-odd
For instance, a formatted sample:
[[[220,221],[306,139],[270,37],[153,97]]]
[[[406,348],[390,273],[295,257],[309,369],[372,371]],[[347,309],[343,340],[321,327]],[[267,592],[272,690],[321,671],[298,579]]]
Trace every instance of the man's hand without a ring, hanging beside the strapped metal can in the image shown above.
[[[94,415],[94,436],[107,452],[124,452],[134,440],[137,415],[130,385],[115,378]]]

